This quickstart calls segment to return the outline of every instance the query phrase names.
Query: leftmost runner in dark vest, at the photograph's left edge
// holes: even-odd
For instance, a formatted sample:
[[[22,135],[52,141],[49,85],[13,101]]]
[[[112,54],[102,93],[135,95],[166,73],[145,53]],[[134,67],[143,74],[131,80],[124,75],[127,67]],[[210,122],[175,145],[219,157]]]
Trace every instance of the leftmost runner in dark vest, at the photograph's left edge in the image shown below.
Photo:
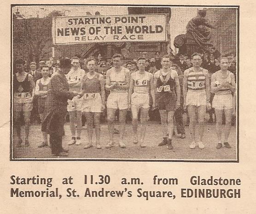
[[[30,115],[33,109],[33,97],[35,89],[33,77],[24,71],[24,65],[25,61],[23,59],[17,59],[13,68],[13,121],[18,137],[17,147],[22,146],[22,116],[25,122],[25,146],[29,146]]]

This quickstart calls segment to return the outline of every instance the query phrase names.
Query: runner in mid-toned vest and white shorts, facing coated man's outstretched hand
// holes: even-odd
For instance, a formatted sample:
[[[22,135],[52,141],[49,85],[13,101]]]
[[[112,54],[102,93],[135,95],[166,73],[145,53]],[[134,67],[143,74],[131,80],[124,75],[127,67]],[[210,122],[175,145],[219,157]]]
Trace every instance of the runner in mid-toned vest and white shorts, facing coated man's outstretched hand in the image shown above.
[[[89,72],[84,75],[81,81],[81,105],[82,113],[87,119],[88,144],[85,149],[92,147],[93,123],[95,125],[96,148],[101,149],[100,145],[100,114],[105,109],[105,80],[102,74],[96,72],[97,63],[91,58],[87,61]]]

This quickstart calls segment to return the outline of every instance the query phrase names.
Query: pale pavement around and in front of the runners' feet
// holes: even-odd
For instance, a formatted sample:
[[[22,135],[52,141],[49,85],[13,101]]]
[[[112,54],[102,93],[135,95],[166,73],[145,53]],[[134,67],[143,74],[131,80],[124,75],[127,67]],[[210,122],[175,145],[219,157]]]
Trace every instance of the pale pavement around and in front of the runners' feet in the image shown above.
[[[116,125],[118,128],[118,126]],[[63,137],[63,147],[69,149],[69,156],[65,159],[151,159],[151,160],[209,160],[209,161],[235,161],[237,158],[237,143],[236,143],[236,127],[231,128],[229,136],[229,143],[231,149],[221,148],[216,149],[217,144],[215,124],[207,123],[205,127],[203,150],[198,147],[190,149],[190,139],[188,135],[188,127],[186,128],[186,138],[173,138],[173,150],[168,150],[166,146],[158,146],[162,141],[161,125],[150,122],[147,124],[145,136],[145,148],[140,145],[133,144],[132,126],[127,124],[126,137],[124,143],[127,148],[122,149],[118,145],[118,134],[114,134],[115,146],[111,149],[105,149],[108,142],[107,125],[103,124],[101,127],[101,145],[102,149],[96,149],[94,146],[89,149],[84,149],[87,143],[87,130],[83,128],[81,134],[81,145],[68,145],[71,139],[70,127],[68,124],[64,126],[65,136]],[[52,156],[50,147],[38,148],[41,144],[42,133],[41,125],[32,125],[29,134],[29,147],[22,146],[17,148],[17,136],[13,135],[12,157],[14,159],[55,159],[58,157]],[[95,142],[95,134],[93,135],[93,142]]]

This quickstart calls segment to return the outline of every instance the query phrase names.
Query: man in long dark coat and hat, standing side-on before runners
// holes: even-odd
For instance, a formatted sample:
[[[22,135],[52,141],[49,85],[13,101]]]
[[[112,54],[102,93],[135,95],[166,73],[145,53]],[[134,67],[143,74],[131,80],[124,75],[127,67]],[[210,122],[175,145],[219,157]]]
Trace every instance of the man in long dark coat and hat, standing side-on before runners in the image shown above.
[[[68,150],[62,147],[62,136],[64,135],[65,116],[67,114],[68,99],[72,99],[77,92],[69,91],[69,84],[66,74],[71,68],[71,60],[62,58],[60,60],[60,69],[52,76],[48,87],[45,104],[45,120],[42,123],[42,131],[50,134],[50,144],[52,155],[68,156]]]

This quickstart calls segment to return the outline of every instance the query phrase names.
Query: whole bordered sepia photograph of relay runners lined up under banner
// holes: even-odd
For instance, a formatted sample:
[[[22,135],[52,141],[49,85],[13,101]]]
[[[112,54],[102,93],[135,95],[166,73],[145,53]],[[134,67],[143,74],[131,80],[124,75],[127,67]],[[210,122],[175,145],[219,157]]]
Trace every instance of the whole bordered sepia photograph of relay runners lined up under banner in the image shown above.
[[[239,162],[239,7],[12,5],[10,160]]]

